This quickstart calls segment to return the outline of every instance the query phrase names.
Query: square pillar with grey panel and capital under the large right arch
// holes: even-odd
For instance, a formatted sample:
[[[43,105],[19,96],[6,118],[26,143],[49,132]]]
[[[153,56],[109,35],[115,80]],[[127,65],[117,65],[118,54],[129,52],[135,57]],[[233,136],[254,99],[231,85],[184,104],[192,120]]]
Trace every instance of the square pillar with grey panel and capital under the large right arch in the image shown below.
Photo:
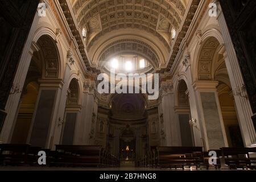
[[[216,86],[218,81],[196,81],[193,87],[199,104],[199,119],[206,150],[227,147],[225,127]]]

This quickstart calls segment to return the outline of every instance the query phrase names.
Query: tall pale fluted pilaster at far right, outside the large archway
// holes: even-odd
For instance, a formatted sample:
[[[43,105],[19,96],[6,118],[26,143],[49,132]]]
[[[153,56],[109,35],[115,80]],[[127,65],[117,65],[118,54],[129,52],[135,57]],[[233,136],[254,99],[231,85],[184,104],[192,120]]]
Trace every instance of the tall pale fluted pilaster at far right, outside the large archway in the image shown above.
[[[221,7],[218,7],[221,10]],[[223,51],[223,55],[226,68],[228,69],[229,80],[234,92],[234,100],[238,110],[237,115],[240,123],[243,143],[246,147],[250,147],[256,144],[256,133],[251,119],[253,112],[251,111],[250,102],[246,97],[246,90],[244,89],[245,83],[243,81],[242,73],[236,56],[236,51],[234,49],[228,26],[222,11],[220,12],[220,15],[217,19],[220,24],[222,37],[225,43],[225,50]]]

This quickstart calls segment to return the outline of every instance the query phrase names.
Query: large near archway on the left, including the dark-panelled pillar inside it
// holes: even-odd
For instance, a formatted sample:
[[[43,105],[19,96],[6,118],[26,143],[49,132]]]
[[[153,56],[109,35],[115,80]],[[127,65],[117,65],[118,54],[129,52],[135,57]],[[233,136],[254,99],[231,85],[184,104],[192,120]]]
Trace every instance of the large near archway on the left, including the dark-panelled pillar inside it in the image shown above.
[[[44,89],[42,82],[46,84],[47,80],[59,78],[59,53],[55,41],[48,35],[41,36],[36,44],[39,50],[30,61],[11,143],[46,147],[56,90],[48,89],[49,85]]]

